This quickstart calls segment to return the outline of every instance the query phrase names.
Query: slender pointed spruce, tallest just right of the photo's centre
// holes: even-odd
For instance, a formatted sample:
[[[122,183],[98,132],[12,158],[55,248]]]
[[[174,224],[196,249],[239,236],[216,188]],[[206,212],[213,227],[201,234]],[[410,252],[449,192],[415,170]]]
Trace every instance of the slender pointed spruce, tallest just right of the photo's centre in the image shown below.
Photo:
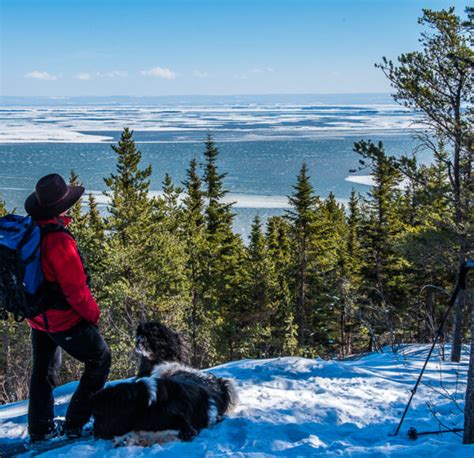
[[[315,219],[316,206],[319,199],[314,196],[313,186],[308,176],[308,167],[305,163],[301,166],[294,193],[289,197],[292,206],[287,211],[287,218],[292,223],[292,238],[295,245],[295,287],[296,287],[296,323],[298,325],[298,343],[303,347],[306,343],[307,333],[307,303],[306,292],[309,239],[312,233],[312,224]]]

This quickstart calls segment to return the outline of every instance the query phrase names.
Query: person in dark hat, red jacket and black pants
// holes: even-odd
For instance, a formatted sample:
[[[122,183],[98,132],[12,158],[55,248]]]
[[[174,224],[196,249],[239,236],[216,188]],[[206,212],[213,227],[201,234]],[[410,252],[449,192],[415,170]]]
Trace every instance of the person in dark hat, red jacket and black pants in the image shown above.
[[[91,395],[107,380],[111,355],[97,323],[100,312],[92,297],[88,277],[72,234],[66,229],[66,212],[84,193],[68,186],[57,174],[41,178],[25,201],[25,210],[40,226],[41,265],[45,277],[44,312],[27,320],[31,326],[33,370],[28,405],[31,442],[61,434],[54,422],[53,388],[58,383],[61,349],[85,364],[71,398],[64,433],[79,437],[92,411]]]

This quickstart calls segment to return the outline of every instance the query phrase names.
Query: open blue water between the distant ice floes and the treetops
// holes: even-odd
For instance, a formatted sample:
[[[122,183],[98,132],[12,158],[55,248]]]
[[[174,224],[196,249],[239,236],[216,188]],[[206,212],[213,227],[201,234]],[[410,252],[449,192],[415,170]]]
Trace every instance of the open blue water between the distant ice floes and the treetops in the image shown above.
[[[218,165],[226,172],[225,186],[233,194],[255,196],[266,206],[266,196],[287,196],[292,193],[302,162],[306,162],[315,192],[329,192],[344,201],[354,188],[361,193],[365,185],[350,183],[345,178],[357,168],[358,155],[353,143],[361,137],[295,141],[246,141],[217,143]],[[400,155],[413,150],[414,140],[405,135],[384,137],[388,153]],[[202,163],[204,145],[199,143],[144,143],[142,165],[152,165],[151,189],[160,190],[165,173],[175,183],[185,179],[189,161],[196,157]],[[106,189],[103,178],[114,172],[116,154],[105,143],[38,143],[0,144],[0,195],[9,208],[22,209],[24,199],[43,175],[57,172],[68,176],[74,169],[89,191]],[[368,171],[358,171],[358,175]],[[258,197],[257,197],[258,196]],[[236,229],[248,234],[250,220],[259,214],[264,219],[281,214],[275,208],[236,209]]]

